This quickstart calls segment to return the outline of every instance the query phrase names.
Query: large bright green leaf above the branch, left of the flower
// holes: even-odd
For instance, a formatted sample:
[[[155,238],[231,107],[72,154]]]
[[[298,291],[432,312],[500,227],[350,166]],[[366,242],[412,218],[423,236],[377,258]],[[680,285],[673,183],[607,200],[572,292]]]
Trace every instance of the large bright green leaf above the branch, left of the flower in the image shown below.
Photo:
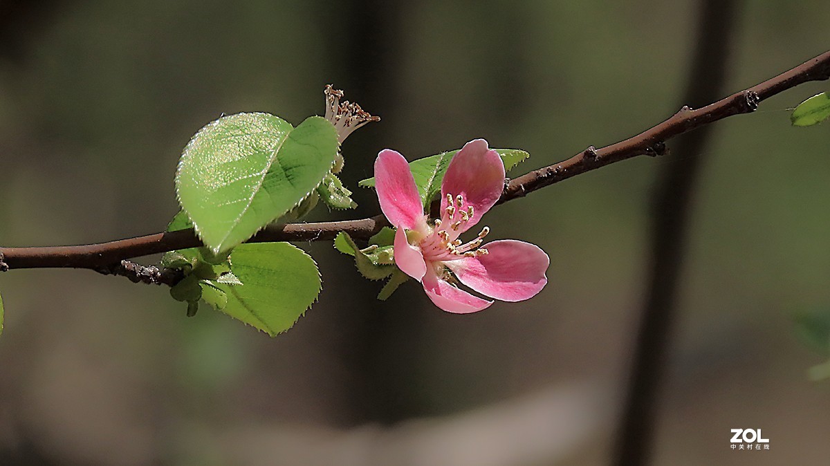
[[[271,114],[222,117],[184,148],[178,200],[203,243],[228,250],[309,196],[337,149],[337,131],[321,117],[295,129]]]

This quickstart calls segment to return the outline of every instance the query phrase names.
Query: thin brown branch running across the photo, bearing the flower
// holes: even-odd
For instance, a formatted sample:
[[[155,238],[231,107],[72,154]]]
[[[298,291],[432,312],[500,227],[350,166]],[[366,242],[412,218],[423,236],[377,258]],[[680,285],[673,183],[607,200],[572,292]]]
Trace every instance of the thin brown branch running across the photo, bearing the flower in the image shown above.
[[[671,118],[642,133],[604,148],[593,146],[574,157],[549,167],[517,177],[505,185],[499,203],[525,197],[542,187],[574,177],[611,163],[638,155],[657,156],[666,153],[666,140],[701,128],[735,114],[746,114],[758,108],[761,100],[769,99],[808,81],[830,78],[830,51],[785,71],[770,80],[742,90],[701,109],[683,107]],[[255,235],[249,242],[332,240],[339,231],[358,239],[368,239],[388,222],[383,216],[354,221],[295,223],[271,226]],[[115,240],[94,245],[0,248],[0,268],[32,269],[74,267],[101,269],[120,264],[121,260],[152,255],[169,250],[180,250],[201,245],[192,230],[157,233],[126,240]]]

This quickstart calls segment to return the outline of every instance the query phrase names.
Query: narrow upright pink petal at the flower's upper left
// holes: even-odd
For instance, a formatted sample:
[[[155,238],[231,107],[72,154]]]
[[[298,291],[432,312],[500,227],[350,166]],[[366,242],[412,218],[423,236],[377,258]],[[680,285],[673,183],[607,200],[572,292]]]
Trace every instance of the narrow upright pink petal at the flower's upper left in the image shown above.
[[[413,230],[422,223],[424,214],[413,173],[403,155],[383,149],[374,161],[374,188],[378,192],[380,210],[389,223]]]

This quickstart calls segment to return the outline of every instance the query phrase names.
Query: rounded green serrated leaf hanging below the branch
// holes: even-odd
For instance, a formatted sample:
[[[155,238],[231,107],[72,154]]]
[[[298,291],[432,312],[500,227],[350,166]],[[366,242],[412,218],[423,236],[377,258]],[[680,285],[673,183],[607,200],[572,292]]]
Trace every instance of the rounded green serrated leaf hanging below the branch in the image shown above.
[[[238,245],[231,264],[243,284],[215,284],[227,295],[222,312],[271,337],[291,328],[320,294],[315,261],[289,243]]]

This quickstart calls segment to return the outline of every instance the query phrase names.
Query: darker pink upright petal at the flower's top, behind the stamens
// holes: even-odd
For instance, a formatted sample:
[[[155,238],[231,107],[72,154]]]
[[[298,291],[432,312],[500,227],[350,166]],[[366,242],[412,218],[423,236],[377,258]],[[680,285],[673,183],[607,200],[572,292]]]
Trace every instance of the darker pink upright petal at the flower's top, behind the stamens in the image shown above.
[[[447,193],[464,197],[464,204],[473,206],[471,221],[461,226],[466,231],[499,200],[505,187],[505,164],[499,153],[487,148],[487,141],[475,139],[452,158],[441,184],[441,210],[447,208]],[[466,208],[466,207],[465,207]]]

